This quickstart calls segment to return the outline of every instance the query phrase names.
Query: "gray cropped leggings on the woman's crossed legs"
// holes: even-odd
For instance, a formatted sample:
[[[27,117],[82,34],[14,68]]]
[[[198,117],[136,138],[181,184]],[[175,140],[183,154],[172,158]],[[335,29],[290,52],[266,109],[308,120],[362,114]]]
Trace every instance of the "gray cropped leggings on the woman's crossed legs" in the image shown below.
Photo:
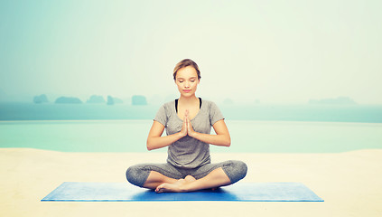
[[[182,179],[187,175],[200,179],[219,167],[226,173],[231,184],[238,182],[247,175],[247,165],[244,162],[229,160],[218,164],[201,165],[193,169],[179,168],[169,163],[132,165],[126,171],[126,178],[129,183],[143,187],[151,171],[173,179]]]

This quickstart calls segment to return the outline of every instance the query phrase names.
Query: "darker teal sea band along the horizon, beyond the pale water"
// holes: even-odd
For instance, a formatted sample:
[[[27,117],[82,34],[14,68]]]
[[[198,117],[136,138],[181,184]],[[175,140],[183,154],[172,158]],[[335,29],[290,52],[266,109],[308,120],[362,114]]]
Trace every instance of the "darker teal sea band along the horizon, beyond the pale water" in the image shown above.
[[[382,123],[382,106],[218,105],[229,120]],[[152,119],[160,105],[0,103],[0,120]]]

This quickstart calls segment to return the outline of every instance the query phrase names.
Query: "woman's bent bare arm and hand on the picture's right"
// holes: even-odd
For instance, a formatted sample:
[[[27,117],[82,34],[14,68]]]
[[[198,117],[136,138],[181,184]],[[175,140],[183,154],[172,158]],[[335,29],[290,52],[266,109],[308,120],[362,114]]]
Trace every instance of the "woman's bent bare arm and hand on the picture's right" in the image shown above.
[[[221,119],[217,121],[212,127],[214,128],[216,135],[198,133],[193,130],[191,121],[188,120],[188,135],[211,145],[230,146],[231,137],[229,136],[228,128],[224,120]]]

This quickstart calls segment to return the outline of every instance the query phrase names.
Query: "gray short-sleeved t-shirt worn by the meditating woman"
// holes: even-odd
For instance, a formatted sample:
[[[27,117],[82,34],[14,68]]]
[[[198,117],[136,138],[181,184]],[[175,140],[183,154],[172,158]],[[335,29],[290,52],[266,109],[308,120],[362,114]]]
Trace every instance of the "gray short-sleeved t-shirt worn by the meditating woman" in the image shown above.
[[[198,114],[191,119],[191,126],[196,132],[210,134],[211,127],[220,119],[224,117],[218,106],[203,99]],[[178,133],[182,129],[183,119],[176,114],[175,100],[164,103],[154,120],[163,124],[167,135]],[[168,146],[167,153],[167,162],[181,168],[196,168],[210,163],[210,144],[189,136]]]

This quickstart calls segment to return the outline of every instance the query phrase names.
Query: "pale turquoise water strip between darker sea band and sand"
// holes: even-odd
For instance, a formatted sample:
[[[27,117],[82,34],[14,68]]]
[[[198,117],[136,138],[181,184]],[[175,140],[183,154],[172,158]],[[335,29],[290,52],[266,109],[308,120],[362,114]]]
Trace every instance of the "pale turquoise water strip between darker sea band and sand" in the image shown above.
[[[0,121],[0,147],[145,152],[152,123],[153,120]],[[339,153],[382,148],[380,123],[255,120],[226,123],[231,146],[211,146],[212,152]],[[153,152],[165,151],[166,148]]]

